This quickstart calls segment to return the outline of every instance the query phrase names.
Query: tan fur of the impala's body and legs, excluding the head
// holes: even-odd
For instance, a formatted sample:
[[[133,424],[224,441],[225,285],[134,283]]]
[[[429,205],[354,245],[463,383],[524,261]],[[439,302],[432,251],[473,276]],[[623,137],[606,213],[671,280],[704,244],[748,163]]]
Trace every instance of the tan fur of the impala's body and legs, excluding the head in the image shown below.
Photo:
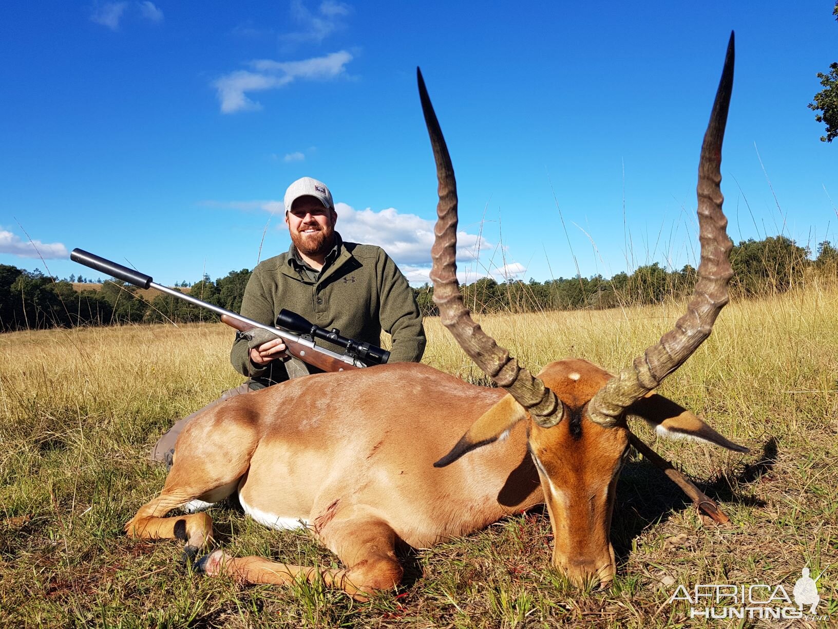
[[[318,374],[237,396],[184,429],[161,495],[127,533],[173,538],[173,522],[192,516],[155,521],[153,535],[143,533],[151,530],[144,518],[237,481],[242,502],[309,522],[348,567],[332,575],[335,585],[356,596],[392,587],[401,580],[396,543],[427,547],[542,502],[525,424],[456,465],[433,467],[503,397],[414,363]],[[286,564],[265,561],[221,564],[246,580],[275,582],[266,575],[277,572],[287,581]]]

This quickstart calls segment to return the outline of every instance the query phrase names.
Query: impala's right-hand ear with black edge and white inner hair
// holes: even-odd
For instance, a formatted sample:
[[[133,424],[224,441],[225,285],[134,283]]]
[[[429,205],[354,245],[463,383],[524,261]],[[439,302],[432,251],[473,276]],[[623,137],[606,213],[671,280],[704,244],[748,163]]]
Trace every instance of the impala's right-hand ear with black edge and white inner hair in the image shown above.
[[[718,434],[680,404],[657,393],[647,393],[626,409],[626,415],[644,418],[657,434],[667,439],[696,439],[734,452],[750,452]]]

